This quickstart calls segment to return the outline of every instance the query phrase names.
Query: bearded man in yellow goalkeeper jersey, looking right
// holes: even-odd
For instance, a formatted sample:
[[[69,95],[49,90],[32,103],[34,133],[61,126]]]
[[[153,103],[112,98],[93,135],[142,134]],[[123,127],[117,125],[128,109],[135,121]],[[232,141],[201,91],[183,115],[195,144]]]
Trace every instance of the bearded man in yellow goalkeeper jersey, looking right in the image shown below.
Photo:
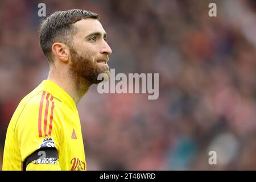
[[[49,75],[11,118],[3,170],[86,170],[76,105],[100,73],[110,75],[106,32],[97,14],[73,9],[44,20],[39,38]]]

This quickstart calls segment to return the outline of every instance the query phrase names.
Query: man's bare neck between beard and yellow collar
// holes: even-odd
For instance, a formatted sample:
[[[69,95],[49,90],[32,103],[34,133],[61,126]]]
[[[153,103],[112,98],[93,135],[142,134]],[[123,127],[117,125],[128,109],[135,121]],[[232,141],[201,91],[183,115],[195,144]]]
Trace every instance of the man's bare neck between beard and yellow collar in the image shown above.
[[[77,79],[69,72],[57,73],[56,70],[50,70],[47,80],[55,82],[61,89],[71,96],[77,105],[90,87],[90,83],[84,78]]]

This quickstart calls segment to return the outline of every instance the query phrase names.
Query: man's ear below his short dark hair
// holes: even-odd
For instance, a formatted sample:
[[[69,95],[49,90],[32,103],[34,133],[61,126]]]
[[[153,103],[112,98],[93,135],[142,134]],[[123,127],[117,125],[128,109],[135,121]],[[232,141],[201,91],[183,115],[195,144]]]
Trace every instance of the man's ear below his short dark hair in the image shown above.
[[[64,63],[68,63],[69,59],[69,48],[63,43],[53,43],[52,44],[52,52],[54,55]]]

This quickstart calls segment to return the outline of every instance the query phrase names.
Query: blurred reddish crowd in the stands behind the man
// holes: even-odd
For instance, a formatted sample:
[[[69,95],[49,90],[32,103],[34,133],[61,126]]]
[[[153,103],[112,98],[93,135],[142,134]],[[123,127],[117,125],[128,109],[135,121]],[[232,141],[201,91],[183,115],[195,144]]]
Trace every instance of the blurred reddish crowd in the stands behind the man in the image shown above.
[[[48,75],[40,2],[47,16],[99,14],[116,74],[159,73],[158,100],[99,94],[96,85],[82,98],[88,170],[256,169],[254,0],[0,1],[0,169],[16,106]]]

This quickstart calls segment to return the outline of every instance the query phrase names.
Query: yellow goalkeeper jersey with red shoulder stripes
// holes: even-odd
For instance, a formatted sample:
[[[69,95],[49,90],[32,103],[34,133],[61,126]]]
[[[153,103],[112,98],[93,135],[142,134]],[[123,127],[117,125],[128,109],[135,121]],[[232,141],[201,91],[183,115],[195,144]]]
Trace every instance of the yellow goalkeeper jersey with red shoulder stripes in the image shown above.
[[[47,148],[56,148],[55,160],[39,152],[40,158],[24,167],[28,156]],[[76,104],[67,92],[49,80],[20,101],[7,129],[3,170],[23,169],[86,170]]]

